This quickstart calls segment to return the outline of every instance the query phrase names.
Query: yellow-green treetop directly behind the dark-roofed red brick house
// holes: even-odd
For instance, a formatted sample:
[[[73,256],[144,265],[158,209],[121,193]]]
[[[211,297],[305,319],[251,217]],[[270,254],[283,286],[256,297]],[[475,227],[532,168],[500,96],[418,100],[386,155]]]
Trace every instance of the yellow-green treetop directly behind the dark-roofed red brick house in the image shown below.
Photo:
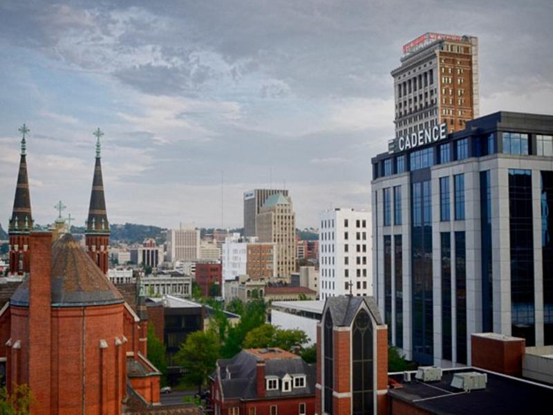
[[[279,329],[279,327],[265,323],[245,335],[243,347],[253,349],[279,347],[290,351],[292,347],[297,345],[301,347],[302,344],[306,344],[308,341],[309,338],[304,331]]]

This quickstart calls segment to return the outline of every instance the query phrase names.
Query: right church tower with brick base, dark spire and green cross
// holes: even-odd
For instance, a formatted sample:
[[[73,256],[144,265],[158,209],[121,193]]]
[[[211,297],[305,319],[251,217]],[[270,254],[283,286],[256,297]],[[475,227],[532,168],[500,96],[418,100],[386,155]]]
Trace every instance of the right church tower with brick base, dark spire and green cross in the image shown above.
[[[92,181],[91,204],[86,221],[85,243],[88,255],[100,267],[102,273],[108,272],[109,222],[104,199],[104,181],[102,180],[102,163],[100,163],[100,129],[94,131],[96,136],[96,163]]]

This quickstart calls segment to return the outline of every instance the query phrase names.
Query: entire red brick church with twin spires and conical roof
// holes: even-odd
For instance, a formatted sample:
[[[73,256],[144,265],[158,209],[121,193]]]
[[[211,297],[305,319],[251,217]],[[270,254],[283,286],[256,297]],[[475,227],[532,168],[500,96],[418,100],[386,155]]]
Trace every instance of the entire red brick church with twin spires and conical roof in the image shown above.
[[[106,277],[109,222],[100,136],[86,249],[69,233],[34,230],[25,125],[10,236],[10,274],[21,285],[0,310],[0,362],[8,392],[26,384],[32,414],[121,414],[129,398],[160,402],[160,372],[147,359],[147,320]]]

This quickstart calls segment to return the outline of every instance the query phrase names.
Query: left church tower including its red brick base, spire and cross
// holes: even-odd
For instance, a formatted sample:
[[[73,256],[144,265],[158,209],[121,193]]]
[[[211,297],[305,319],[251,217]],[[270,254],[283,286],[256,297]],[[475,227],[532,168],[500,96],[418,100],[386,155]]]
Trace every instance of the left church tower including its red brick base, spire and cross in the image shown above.
[[[29,233],[32,230],[32,216],[30,212],[29,179],[27,175],[26,141],[25,135],[30,129],[26,124],[19,129],[23,134],[21,139],[21,159],[19,160],[19,174],[15,188],[13,212],[8,225],[10,235],[10,274],[24,275],[29,272]]]

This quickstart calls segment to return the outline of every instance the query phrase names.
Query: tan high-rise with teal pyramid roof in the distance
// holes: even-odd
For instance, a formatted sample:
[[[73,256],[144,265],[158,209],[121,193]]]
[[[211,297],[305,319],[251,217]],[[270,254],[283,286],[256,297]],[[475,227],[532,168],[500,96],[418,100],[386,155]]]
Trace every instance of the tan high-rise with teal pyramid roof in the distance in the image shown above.
[[[290,197],[282,193],[268,197],[257,215],[256,235],[259,242],[277,244],[277,278],[290,281],[297,261],[296,215]]]

